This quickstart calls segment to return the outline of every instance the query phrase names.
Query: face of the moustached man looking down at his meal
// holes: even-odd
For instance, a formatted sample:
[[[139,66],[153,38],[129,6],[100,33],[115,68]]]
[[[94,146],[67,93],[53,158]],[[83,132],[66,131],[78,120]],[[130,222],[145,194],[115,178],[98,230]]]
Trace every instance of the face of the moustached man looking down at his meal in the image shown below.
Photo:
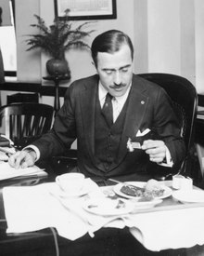
[[[113,96],[120,97],[130,87],[133,77],[131,49],[127,45],[113,54],[98,52],[97,73],[104,88]]]

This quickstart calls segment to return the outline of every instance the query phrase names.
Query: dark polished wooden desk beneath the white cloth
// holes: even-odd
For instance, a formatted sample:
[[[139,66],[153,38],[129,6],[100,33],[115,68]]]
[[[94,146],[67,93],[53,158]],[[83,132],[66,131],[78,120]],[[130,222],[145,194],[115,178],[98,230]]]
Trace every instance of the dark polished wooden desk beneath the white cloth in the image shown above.
[[[48,178],[38,180],[38,182],[53,182],[54,179],[55,176],[49,176]],[[33,180],[30,179],[24,181],[19,181],[17,179],[13,182],[1,182],[0,186],[29,185],[32,184],[32,182]],[[94,238],[85,235],[75,241],[70,241],[61,236],[57,236],[56,231],[49,228],[37,232],[8,236],[6,234],[6,221],[4,221],[5,213],[2,191],[0,193],[0,219],[1,256],[58,255],[55,244],[56,238],[60,256],[196,256],[200,255],[199,253],[203,249],[202,247],[197,246],[192,249],[168,249],[152,252],[140,245],[127,228],[103,228],[96,232]]]

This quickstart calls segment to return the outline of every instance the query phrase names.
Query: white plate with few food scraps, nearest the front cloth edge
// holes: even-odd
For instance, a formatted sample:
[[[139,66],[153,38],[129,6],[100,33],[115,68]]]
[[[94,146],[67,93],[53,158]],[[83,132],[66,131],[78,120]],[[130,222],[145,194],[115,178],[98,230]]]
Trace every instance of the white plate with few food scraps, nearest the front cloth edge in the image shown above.
[[[117,206],[121,207],[117,208]],[[124,215],[134,210],[134,204],[126,199],[109,199],[103,198],[101,200],[85,200],[83,209],[90,213],[102,216]]]

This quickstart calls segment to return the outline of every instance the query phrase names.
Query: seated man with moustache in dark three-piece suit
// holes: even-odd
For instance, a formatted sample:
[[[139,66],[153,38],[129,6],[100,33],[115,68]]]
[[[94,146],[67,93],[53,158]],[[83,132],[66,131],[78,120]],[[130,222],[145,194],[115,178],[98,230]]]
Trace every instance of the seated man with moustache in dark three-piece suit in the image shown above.
[[[147,181],[155,169],[178,169],[185,143],[172,102],[158,85],[133,74],[129,36],[99,34],[91,50],[97,74],[72,83],[51,131],[12,155],[10,165],[25,168],[61,155],[77,139],[75,170],[87,177]]]

